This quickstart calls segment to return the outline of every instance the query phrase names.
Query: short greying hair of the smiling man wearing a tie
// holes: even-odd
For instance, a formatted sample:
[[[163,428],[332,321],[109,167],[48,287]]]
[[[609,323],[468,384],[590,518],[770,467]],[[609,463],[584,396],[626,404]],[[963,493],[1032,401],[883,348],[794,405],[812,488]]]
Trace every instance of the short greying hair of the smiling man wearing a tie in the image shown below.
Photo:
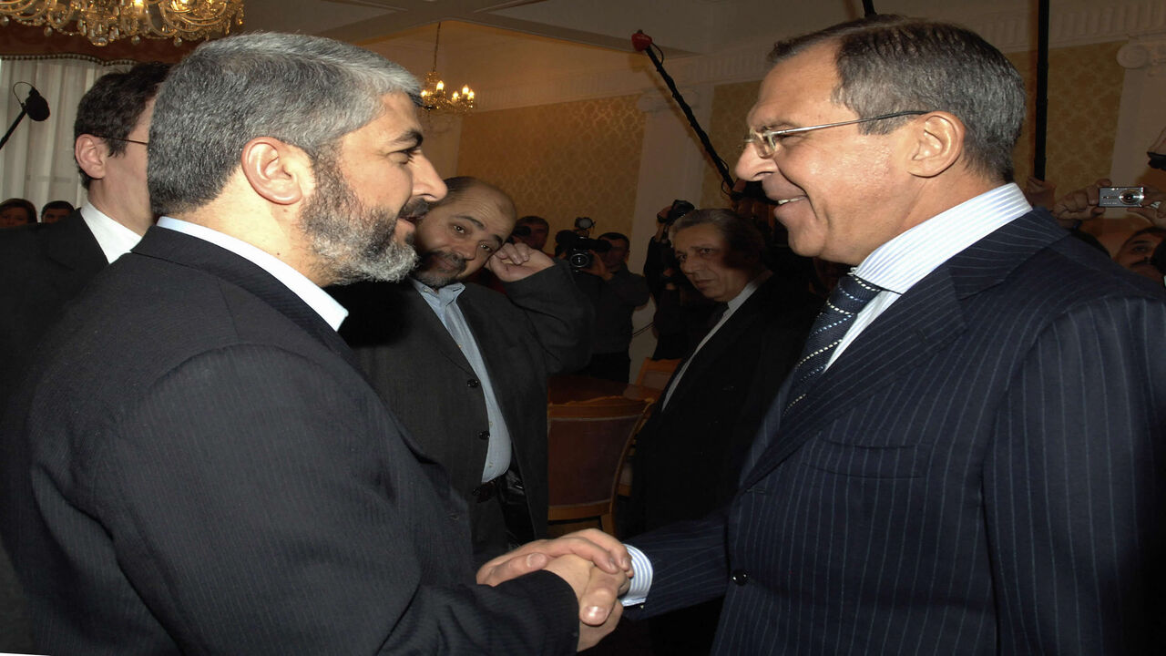
[[[861,118],[900,111],[946,111],[963,121],[972,170],[1010,182],[1012,148],[1025,117],[1024,81],[978,34],[948,23],[878,15],[777,43],[775,64],[819,43],[836,43],[838,86],[831,100]],[[886,134],[907,118],[863,124]]]

